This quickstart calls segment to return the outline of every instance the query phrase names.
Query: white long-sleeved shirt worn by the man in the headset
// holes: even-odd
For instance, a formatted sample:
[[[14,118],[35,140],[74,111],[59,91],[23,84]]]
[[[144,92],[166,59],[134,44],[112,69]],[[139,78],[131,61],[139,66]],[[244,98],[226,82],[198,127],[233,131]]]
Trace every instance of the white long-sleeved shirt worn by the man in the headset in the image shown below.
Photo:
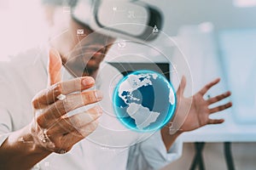
[[[9,133],[32,122],[31,100],[40,90],[47,88],[47,59],[46,48],[33,48],[9,62],[0,63],[0,147]],[[63,80],[73,78],[64,69],[62,74]],[[160,132],[132,132],[113,115],[111,92],[115,77],[119,75],[112,66],[102,63],[96,78],[96,88],[104,93],[104,99],[97,104],[103,108],[99,127],[66,154],[53,153],[34,169],[148,170],[164,167],[181,156],[180,141],[166,152]]]

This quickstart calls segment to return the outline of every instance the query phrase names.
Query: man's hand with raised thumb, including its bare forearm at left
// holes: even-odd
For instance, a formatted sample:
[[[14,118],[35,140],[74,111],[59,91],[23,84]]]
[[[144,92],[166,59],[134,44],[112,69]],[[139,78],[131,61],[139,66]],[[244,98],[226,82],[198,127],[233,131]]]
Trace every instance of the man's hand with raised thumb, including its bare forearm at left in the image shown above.
[[[92,133],[102,115],[101,108],[92,107],[73,116],[67,116],[67,112],[102,99],[99,91],[88,90],[94,84],[92,77],[61,82],[61,56],[51,49],[49,87],[32,99],[33,121],[9,133],[1,145],[0,169],[31,169],[52,152],[66,153]],[[66,99],[58,99],[60,94],[66,95]]]

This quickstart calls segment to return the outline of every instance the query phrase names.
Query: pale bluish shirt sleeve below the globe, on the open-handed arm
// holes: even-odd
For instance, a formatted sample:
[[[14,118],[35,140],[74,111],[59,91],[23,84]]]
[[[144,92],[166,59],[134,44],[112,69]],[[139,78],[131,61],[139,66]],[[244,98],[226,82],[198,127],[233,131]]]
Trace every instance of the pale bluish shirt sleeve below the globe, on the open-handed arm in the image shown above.
[[[170,150],[166,151],[160,132],[156,132],[146,141],[131,146],[127,170],[160,169],[176,161],[182,155],[182,150],[183,143],[177,139]]]

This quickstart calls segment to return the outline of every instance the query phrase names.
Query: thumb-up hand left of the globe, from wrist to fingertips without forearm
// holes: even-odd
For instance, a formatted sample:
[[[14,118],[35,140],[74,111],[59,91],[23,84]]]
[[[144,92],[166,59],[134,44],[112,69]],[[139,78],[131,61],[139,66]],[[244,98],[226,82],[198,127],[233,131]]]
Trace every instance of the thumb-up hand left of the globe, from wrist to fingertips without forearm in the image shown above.
[[[92,77],[78,77],[61,82],[61,56],[55,49],[50,49],[49,88],[32,99],[35,121],[31,128],[36,144],[51,152],[66,153],[73,144],[96,129],[97,119],[102,115],[99,106],[67,116],[70,111],[102,100],[100,91],[86,90],[94,84]],[[60,94],[66,95],[66,99],[58,99]]]

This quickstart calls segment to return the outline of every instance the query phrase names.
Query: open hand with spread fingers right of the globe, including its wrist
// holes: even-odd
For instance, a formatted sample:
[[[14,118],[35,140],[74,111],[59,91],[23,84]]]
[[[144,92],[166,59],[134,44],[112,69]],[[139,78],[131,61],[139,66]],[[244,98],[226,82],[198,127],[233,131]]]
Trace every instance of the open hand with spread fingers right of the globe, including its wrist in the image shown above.
[[[224,111],[232,106],[231,102],[224,105],[219,105],[212,109],[210,105],[226,99],[230,96],[230,92],[220,94],[210,99],[204,99],[207,91],[216,85],[220,79],[216,79],[208,83],[195,95],[185,98],[183,92],[186,88],[186,79],[182,78],[179,88],[177,89],[177,110],[174,119],[161,129],[162,139],[166,145],[166,150],[169,150],[177,136],[183,132],[189,132],[207,124],[219,124],[224,122],[224,119],[210,119],[209,116],[218,111]]]

